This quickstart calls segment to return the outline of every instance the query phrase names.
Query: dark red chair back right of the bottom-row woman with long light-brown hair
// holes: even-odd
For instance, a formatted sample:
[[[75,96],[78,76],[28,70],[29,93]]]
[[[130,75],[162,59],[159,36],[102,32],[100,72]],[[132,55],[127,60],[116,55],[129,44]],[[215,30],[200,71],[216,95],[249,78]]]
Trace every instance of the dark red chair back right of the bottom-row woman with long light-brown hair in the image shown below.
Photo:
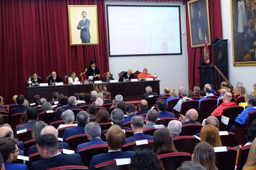
[[[227,147],[227,152],[215,152],[216,166],[219,170],[233,170],[236,166],[237,150]]]

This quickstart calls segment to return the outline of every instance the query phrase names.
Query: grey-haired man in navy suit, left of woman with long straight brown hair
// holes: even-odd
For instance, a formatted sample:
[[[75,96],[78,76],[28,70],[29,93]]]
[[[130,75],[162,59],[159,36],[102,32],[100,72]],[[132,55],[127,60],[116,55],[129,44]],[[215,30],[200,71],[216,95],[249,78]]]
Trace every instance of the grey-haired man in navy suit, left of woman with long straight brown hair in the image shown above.
[[[121,109],[116,108],[111,112],[111,121],[113,122],[113,125],[118,125],[123,130],[132,130],[131,128],[124,127],[121,125],[123,120],[124,120],[124,112]],[[104,134],[107,132],[108,132],[108,129],[102,131],[101,139],[104,138]]]

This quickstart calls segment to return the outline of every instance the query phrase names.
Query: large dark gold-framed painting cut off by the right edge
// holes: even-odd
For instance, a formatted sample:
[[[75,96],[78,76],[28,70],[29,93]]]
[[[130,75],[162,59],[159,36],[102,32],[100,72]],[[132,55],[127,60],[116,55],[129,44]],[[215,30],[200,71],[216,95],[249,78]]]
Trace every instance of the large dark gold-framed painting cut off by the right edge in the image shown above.
[[[233,66],[256,65],[256,0],[230,0]]]

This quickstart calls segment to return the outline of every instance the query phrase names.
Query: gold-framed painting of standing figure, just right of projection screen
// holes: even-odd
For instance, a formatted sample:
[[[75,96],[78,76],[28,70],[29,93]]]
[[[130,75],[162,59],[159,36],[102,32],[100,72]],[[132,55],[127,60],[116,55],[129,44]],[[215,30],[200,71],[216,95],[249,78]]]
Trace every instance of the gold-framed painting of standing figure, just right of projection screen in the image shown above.
[[[211,45],[210,17],[208,0],[190,0],[188,19],[191,47],[203,47],[207,31],[207,45]]]

